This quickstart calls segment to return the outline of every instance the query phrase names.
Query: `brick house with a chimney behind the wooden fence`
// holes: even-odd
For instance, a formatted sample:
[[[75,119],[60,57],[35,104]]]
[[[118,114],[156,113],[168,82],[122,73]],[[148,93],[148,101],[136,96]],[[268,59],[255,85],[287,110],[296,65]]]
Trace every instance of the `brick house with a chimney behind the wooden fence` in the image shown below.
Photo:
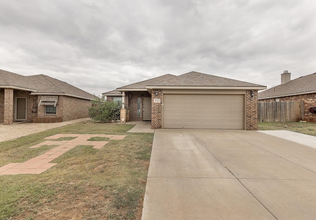
[[[291,73],[281,74],[281,84],[258,94],[259,102],[304,100],[304,120],[316,122],[316,113],[310,108],[316,107],[316,73],[291,80]]]

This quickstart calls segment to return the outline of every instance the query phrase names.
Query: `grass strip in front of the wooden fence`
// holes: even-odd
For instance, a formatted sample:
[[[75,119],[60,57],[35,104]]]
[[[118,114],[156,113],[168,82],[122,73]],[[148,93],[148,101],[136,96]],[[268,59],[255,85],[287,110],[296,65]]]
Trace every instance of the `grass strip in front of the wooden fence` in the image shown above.
[[[316,136],[316,123],[305,122],[259,122],[258,130],[288,130]]]

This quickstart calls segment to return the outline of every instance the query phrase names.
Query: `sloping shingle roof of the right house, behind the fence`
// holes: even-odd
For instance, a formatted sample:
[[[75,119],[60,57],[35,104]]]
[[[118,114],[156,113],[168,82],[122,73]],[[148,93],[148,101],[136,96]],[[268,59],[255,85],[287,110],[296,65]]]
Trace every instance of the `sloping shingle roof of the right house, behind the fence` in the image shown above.
[[[301,76],[258,94],[258,99],[277,98],[316,92],[316,73]]]

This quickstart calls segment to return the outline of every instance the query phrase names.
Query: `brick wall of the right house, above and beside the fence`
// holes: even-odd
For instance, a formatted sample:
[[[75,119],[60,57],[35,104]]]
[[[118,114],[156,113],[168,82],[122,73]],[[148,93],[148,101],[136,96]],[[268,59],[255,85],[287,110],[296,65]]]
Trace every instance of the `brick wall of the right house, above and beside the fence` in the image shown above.
[[[278,97],[279,101],[299,101],[304,100],[304,120],[316,122],[316,114],[310,112],[310,108],[316,107],[316,93],[302,94],[296,96]],[[276,99],[262,99],[259,102],[275,102]]]

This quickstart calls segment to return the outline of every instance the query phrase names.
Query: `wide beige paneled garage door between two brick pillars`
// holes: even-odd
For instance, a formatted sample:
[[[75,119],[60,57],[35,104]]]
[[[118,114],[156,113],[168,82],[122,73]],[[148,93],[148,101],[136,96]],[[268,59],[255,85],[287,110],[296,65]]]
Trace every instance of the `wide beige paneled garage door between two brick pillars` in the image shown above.
[[[163,128],[243,129],[243,95],[164,94]]]

